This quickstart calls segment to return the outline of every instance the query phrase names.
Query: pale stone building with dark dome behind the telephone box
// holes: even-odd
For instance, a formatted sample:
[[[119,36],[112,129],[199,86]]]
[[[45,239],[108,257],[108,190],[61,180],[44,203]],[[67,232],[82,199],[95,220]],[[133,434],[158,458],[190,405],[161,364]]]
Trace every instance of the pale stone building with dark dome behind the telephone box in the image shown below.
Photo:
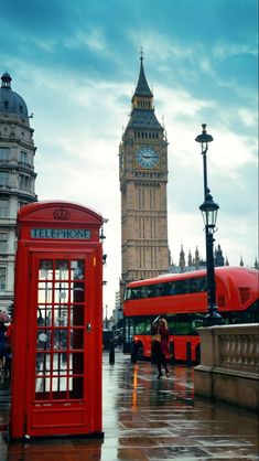
[[[6,72],[0,88],[0,310],[13,302],[18,210],[36,201],[33,129]]]

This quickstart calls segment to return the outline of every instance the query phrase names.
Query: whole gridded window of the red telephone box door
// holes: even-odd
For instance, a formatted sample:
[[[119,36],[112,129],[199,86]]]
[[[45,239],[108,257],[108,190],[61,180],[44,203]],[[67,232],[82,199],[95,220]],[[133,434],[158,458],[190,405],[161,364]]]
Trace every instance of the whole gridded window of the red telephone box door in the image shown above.
[[[84,278],[83,259],[40,260],[36,400],[84,397]]]

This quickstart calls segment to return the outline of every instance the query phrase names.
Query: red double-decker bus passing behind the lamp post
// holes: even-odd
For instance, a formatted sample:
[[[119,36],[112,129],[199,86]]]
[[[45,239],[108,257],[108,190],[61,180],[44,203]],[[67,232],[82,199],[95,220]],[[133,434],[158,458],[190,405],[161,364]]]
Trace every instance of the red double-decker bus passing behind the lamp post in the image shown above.
[[[223,323],[259,321],[259,272],[244,267],[215,268],[216,298]],[[123,299],[123,352],[132,345],[139,357],[151,356],[151,324],[168,320],[170,347],[175,361],[199,362],[199,336],[207,313],[206,270],[166,274],[132,281]]]

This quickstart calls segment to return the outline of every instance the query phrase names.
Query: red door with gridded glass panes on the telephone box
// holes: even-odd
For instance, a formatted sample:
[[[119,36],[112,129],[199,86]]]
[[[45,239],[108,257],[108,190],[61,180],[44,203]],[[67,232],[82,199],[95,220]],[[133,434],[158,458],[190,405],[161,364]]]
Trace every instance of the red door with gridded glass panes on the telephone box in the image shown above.
[[[54,255],[54,256],[53,256]],[[31,436],[89,431],[95,401],[95,250],[31,254],[28,417]],[[91,378],[90,378],[91,376]]]

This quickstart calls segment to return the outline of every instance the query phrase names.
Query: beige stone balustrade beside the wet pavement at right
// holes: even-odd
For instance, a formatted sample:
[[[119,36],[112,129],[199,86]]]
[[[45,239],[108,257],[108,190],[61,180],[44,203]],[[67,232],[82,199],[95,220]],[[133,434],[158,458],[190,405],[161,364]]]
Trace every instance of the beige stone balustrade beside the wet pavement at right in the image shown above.
[[[259,409],[259,324],[197,331],[201,364],[194,368],[195,395]]]

